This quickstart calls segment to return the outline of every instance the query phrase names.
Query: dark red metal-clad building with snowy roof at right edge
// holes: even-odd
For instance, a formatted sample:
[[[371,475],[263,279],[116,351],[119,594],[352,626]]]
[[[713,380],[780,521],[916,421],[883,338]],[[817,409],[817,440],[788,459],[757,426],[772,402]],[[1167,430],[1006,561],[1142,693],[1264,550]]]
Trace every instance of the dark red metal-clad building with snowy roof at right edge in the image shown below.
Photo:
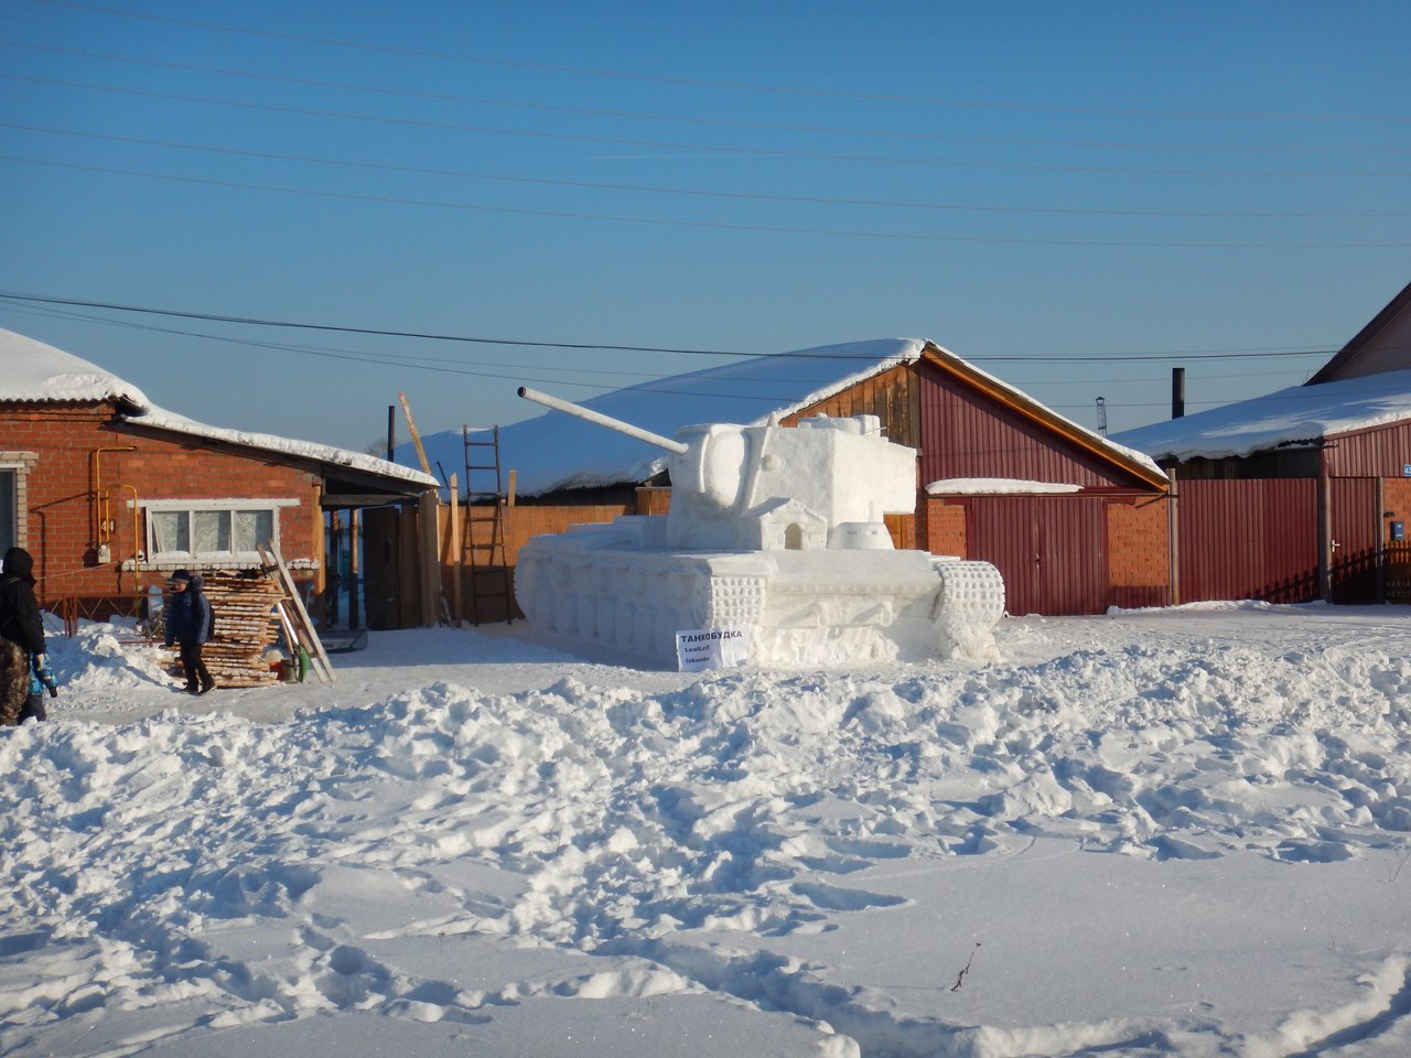
[[[1178,601],[1411,601],[1411,286],[1304,385],[1116,440],[1174,480]]]

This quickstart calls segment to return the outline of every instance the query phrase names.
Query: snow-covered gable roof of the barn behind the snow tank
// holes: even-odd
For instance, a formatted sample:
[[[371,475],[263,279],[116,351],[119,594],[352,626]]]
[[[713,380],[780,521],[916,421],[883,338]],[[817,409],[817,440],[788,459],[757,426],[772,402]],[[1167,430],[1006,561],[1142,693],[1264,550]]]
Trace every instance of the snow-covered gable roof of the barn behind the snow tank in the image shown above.
[[[700,423],[763,425],[772,415],[793,415],[866,378],[899,364],[913,363],[927,346],[1006,389],[1016,401],[1041,408],[1033,398],[921,339],[876,339],[751,357],[642,382],[579,403],[663,437],[674,437],[683,426]],[[1091,433],[1044,411],[1075,432]],[[1091,440],[1115,456],[1161,475],[1146,456],[1112,444],[1095,433]],[[433,467],[439,464],[449,477],[464,468],[463,442],[460,433],[435,433],[422,437],[422,447],[428,461]],[[418,458],[411,444],[399,446],[395,457],[406,464],[416,463]],[[646,481],[666,468],[667,453],[649,442],[550,411],[543,416],[502,426],[499,461],[505,471],[515,470],[519,494],[542,495],[566,488]],[[470,491],[485,491],[480,487],[483,484],[471,481]],[[461,482],[463,488],[464,485]]]

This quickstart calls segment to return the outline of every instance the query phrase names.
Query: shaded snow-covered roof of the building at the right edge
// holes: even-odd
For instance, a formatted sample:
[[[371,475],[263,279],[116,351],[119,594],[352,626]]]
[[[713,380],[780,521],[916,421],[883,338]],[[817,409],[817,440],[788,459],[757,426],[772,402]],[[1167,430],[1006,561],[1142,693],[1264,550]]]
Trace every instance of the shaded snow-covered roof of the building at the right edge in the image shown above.
[[[1181,419],[1125,430],[1153,458],[1229,458],[1411,419],[1411,371],[1295,385]]]

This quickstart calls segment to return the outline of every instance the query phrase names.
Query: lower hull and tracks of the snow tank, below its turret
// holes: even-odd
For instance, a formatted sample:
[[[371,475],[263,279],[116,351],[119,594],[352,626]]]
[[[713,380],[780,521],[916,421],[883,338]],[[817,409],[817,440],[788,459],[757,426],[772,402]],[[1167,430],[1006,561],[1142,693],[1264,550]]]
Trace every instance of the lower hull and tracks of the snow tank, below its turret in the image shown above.
[[[672,666],[677,632],[745,628],[752,664],[840,667],[954,656],[965,633],[985,640],[1003,614],[986,563],[914,550],[673,552],[650,546],[652,521],[525,545],[515,597],[531,624],[566,645]],[[947,594],[947,580],[974,583],[974,567],[985,584]]]

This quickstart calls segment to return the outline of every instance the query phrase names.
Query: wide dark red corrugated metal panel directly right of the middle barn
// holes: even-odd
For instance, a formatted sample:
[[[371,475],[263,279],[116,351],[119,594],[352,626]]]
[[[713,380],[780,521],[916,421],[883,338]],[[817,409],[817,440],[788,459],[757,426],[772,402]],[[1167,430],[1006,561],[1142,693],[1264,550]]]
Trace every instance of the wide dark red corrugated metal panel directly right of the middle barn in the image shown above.
[[[1319,597],[1318,482],[1180,481],[1180,600]]]

